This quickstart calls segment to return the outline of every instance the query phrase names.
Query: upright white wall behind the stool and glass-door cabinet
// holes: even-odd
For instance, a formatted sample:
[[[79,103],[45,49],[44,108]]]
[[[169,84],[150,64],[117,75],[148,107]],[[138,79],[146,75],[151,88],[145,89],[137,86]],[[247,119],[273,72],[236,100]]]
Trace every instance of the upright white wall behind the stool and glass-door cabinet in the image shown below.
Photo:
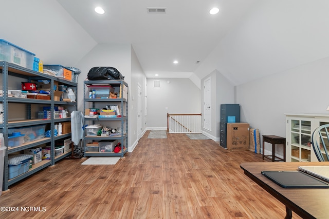
[[[286,137],[284,113],[329,114],[328,69],[329,57],[237,86],[242,120],[260,135]]]

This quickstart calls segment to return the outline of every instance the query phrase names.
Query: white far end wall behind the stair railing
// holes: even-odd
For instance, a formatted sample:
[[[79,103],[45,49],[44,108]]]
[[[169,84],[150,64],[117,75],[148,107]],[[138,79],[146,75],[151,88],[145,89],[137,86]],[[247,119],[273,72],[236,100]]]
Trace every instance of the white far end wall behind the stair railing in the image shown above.
[[[154,80],[161,88],[153,88]],[[189,78],[148,78],[147,96],[150,129],[167,129],[167,113],[200,113],[200,90]]]

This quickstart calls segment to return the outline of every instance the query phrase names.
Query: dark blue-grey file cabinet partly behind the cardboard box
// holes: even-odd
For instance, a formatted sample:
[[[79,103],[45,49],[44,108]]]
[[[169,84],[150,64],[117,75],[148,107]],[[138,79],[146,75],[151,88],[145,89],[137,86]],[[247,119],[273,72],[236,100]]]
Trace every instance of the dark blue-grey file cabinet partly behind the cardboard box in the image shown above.
[[[231,116],[235,116],[235,121],[231,121]],[[239,104],[221,104],[221,122],[220,122],[220,145],[227,147],[227,123],[240,123],[240,105]]]

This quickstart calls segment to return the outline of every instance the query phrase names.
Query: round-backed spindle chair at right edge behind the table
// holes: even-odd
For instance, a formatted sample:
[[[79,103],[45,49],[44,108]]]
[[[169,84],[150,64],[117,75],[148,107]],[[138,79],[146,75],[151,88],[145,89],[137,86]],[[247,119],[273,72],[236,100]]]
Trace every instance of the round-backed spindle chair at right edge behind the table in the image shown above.
[[[318,161],[329,161],[329,155],[327,151],[327,147],[329,147],[328,129],[329,124],[325,124],[316,128],[312,134],[312,146]],[[325,157],[323,155],[325,155]]]

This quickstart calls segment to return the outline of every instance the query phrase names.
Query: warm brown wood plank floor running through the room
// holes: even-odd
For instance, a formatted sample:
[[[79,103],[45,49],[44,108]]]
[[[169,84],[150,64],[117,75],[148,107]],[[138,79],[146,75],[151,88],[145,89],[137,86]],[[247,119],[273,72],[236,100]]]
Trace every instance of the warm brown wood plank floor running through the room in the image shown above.
[[[116,165],[63,160],[9,187],[0,206],[19,212],[0,218],[284,218],[285,206],[240,168],[264,162],[260,154],[185,134],[150,139],[148,133]]]

